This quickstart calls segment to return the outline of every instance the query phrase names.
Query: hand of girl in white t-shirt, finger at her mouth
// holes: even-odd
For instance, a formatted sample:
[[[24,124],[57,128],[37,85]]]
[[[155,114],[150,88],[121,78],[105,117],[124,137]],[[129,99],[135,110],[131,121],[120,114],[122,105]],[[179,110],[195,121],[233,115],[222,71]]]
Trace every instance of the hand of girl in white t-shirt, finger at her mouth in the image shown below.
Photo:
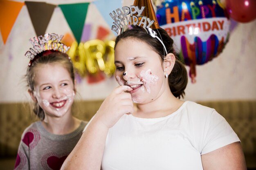
[[[103,101],[101,107],[94,116],[94,122],[98,121],[107,128],[114,126],[121,116],[134,112],[130,86],[119,86]]]

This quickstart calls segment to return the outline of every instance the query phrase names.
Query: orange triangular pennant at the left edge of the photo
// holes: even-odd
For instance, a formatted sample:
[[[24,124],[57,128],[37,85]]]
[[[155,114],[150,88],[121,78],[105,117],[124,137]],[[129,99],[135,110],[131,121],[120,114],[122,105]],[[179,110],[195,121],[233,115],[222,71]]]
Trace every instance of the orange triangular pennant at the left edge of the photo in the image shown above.
[[[23,5],[24,2],[0,0],[0,30],[4,44]]]

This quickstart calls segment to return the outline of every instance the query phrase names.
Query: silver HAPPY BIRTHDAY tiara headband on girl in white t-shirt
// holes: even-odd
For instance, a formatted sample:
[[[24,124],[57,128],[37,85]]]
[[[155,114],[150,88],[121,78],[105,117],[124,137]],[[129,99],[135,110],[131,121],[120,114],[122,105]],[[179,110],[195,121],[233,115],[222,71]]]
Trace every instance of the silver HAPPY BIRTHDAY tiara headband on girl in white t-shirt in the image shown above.
[[[164,46],[164,51],[167,54],[164,43],[157,36],[157,33],[150,28],[155,20],[150,20],[150,18],[141,15],[144,9],[145,7],[141,7],[141,9],[139,9],[138,6],[131,5],[130,7],[122,7],[122,10],[120,8],[117,8],[116,11],[112,11],[112,13],[109,14],[114,20],[114,25],[112,25],[112,31],[115,31],[117,35],[120,35],[128,29],[132,29],[133,25],[142,25],[141,27],[144,28],[149,35],[151,35],[153,38],[157,38],[157,40],[161,42],[161,44]],[[129,14],[130,16],[127,16]]]

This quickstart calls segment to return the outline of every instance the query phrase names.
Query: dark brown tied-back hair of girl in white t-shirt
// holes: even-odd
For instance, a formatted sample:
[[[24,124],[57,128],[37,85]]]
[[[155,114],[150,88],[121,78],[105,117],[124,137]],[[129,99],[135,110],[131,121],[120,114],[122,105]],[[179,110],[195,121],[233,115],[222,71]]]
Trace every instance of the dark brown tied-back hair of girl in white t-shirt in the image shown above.
[[[146,42],[149,46],[152,47],[152,49],[161,56],[162,62],[164,62],[164,47],[162,43],[157,40],[157,38],[152,38],[151,35],[149,35],[145,29],[139,27],[139,26],[132,26],[132,29],[129,29],[127,31],[124,31],[120,35],[117,36],[115,40],[115,47],[117,46],[117,43],[120,40],[126,39],[126,38],[134,38],[143,42]],[[185,95],[185,88],[188,83],[188,75],[186,68],[184,64],[179,60],[177,55],[174,52],[173,48],[173,39],[170,38],[168,33],[162,28],[160,29],[154,29],[154,31],[157,33],[157,36],[162,39],[164,45],[166,46],[167,53],[173,53],[176,57],[175,65],[173,67],[173,70],[171,71],[171,74],[168,76],[168,83],[169,87],[171,89],[171,92],[175,97],[184,98]]]

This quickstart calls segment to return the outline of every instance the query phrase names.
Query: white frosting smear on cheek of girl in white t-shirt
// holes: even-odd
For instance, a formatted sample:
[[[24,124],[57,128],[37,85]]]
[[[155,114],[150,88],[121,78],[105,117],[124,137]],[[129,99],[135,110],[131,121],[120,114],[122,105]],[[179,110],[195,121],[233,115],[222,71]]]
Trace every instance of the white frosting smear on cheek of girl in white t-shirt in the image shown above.
[[[152,75],[151,70],[148,69],[147,71],[142,70],[139,73],[139,77],[141,78],[141,81],[146,87],[146,91],[150,93],[150,84],[157,84],[158,76]]]

